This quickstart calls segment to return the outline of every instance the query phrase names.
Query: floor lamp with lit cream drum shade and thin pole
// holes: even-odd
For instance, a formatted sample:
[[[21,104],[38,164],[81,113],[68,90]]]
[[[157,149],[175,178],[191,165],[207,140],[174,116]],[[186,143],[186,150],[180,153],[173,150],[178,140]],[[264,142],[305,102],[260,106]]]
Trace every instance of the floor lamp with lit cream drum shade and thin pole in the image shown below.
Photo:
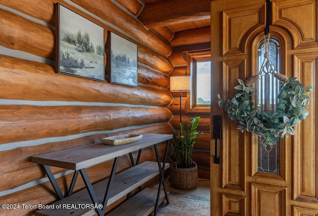
[[[170,77],[170,92],[180,92],[180,123],[181,121],[181,93],[190,92],[191,77],[190,76],[171,76]]]

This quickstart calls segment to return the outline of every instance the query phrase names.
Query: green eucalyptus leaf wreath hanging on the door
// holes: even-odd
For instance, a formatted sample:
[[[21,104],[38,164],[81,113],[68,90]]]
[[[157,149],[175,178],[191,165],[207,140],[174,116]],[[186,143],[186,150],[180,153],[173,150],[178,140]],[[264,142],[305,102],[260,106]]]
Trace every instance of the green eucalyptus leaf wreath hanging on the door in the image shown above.
[[[240,79],[239,85],[235,87],[239,93],[231,101],[222,100],[218,95],[219,106],[228,112],[231,120],[235,120],[239,124],[239,131],[246,130],[256,133],[260,136],[263,146],[274,145],[279,136],[294,135],[294,127],[300,120],[306,119],[309,113],[307,105],[309,105],[309,93],[312,91],[312,87],[306,87],[306,93],[304,93],[304,86],[296,79],[286,77],[285,81],[281,82],[282,87],[277,95],[279,103],[276,105],[274,114],[271,112],[258,113],[252,107],[255,89],[246,86]]]

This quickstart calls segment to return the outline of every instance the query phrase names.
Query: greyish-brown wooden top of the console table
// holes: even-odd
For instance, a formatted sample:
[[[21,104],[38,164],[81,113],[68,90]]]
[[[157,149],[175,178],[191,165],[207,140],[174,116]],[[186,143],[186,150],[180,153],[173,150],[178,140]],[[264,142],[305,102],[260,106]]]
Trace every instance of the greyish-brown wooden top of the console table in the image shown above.
[[[87,168],[172,138],[172,134],[143,134],[143,138],[124,145],[103,143],[84,145],[31,157],[31,162],[71,170]]]

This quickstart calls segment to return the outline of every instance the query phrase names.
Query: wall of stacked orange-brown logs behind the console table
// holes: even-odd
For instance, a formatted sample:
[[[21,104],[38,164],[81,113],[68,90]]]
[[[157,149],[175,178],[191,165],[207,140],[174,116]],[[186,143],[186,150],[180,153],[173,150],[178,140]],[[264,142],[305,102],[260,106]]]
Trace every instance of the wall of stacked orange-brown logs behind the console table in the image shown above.
[[[55,73],[56,17],[60,2],[138,45],[138,87]],[[172,47],[134,17],[142,5],[118,0],[0,1],[0,203],[54,202],[50,182],[32,155],[100,142],[125,133],[172,133],[167,109]],[[156,46],[154,46],[156,44]],[[106,50],[107,51],[107,50]],[[105,62],[107,55],[105,53]],[[106,65],[105,65],[106,67]],[[159,145],[160,156],[163,145]],[[136,157],[136,155],[134,155]],[[155,160],[145,149],[141,161]],[[90,167],[92,182],[108,177],[113,161]],[[130,167],[119,160],[118,171]],[[53,168],[62,190],[72,173]],[[80,179],[80,178],[79,178]],[[83,188],[83,182],[76,189]],[[33,215],[35,209],[0,210],[0,215]]]

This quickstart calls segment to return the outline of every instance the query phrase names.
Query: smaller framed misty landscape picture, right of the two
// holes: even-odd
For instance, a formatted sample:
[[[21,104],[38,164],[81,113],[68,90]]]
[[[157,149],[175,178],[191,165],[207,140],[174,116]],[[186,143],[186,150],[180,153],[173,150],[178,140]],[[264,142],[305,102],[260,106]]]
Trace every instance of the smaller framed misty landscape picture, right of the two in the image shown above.
[[[138,87],[137,44],[112,32],[107,32],[108,82]]]

